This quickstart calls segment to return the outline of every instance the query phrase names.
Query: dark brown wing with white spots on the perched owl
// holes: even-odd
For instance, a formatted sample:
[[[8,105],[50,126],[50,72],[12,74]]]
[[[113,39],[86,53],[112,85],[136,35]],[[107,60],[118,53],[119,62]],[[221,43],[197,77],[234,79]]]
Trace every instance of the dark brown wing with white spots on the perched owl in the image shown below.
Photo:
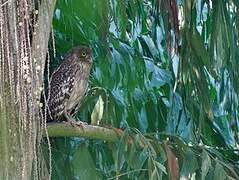
[[[48,109],[50,118],[59,118],[65,109],[65,102],[69,99],[75,78],[75,67],[63,63],[52,74],[48,91]]]

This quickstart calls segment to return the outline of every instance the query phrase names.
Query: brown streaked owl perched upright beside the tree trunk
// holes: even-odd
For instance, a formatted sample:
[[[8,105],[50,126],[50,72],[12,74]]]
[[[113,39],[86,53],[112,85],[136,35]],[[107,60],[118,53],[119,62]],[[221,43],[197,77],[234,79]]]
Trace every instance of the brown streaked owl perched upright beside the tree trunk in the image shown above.
[[[52,73],[48,88],[47,121],[71,120],[71,113],[85,95],[92,65],[92,51],[75,47]]]

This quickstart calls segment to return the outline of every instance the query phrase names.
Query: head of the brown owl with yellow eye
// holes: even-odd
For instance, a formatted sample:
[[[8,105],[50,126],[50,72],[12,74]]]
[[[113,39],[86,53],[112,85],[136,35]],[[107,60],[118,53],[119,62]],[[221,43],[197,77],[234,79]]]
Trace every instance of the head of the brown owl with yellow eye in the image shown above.
[[[74,59],[81,62],[92,63],[92,50],[86,46],[78,46],[72,49]]]

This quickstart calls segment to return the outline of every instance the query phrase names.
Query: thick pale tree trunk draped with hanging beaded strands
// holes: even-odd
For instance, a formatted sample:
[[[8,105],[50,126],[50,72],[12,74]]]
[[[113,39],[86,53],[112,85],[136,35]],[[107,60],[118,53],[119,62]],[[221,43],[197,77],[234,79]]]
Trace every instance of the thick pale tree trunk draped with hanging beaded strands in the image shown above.
[[[40,96],[55,1],[0,0],[0,179],[46,179]]]

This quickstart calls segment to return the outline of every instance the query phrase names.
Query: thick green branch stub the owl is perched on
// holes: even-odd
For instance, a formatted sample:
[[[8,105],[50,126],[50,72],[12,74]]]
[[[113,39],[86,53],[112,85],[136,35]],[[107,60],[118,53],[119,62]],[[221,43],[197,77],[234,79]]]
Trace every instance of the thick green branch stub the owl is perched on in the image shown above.
[[[49,137],[84,137],[109,142],[117,142],[123,131],[116,128],[106,128],[94,125],[82,127],[73,126],[70,123],[48,123],[47,130]]]

